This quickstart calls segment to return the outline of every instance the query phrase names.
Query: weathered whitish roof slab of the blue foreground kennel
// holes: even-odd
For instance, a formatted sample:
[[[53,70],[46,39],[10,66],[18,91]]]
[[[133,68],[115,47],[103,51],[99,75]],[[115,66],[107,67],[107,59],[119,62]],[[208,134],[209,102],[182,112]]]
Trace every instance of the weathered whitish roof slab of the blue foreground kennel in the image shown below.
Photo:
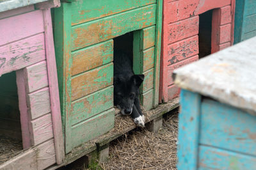
[[[175,84],[256,115],[255,42],[256,37],[175,70]]]

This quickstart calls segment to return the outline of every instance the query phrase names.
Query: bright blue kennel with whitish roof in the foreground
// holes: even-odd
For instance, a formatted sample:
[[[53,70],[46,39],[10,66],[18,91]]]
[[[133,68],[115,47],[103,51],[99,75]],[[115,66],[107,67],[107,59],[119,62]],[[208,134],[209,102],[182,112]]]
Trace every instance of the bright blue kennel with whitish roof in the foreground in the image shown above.
[[[256,167],[255,42],[174,71],[182,88],[178,169]]]

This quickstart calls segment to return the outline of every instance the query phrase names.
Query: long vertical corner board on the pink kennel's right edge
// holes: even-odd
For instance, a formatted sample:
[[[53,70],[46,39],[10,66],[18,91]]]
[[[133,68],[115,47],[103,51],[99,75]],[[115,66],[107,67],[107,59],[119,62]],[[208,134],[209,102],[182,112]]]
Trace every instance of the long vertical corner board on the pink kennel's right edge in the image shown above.
[[[52,3],[58,4],[60,1],[52,0]],[[61,164],[65,157],[63,131],[60,112],[60,95],[58,88],[58,76],[56,69],[56,60],[54,53],[54,42],[52,35],[51,10],[47,9],[43,12],[45,26],[45,53],[46,64],[49,81],[49,93],[51,102],[52,129],[54,135],[54,146],[56,151],[56,163]]]

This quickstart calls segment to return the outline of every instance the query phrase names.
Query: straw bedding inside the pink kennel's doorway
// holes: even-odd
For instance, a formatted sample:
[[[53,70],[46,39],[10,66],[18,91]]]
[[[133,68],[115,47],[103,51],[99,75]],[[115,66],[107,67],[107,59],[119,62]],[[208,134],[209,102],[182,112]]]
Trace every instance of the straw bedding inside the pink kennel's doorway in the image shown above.
[[[0,164],[22,153],[22,142],[0,134]]]

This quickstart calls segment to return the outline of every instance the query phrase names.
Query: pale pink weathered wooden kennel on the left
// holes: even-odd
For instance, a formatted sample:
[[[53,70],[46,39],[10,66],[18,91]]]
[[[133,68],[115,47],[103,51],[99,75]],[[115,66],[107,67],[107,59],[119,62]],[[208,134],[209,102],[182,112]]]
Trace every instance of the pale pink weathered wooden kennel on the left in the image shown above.
[[[50,10],[55,6],[60,1],[0,2],[0,132],[20,137],[24,149],[0,169],[45,169],[63,160]]]

